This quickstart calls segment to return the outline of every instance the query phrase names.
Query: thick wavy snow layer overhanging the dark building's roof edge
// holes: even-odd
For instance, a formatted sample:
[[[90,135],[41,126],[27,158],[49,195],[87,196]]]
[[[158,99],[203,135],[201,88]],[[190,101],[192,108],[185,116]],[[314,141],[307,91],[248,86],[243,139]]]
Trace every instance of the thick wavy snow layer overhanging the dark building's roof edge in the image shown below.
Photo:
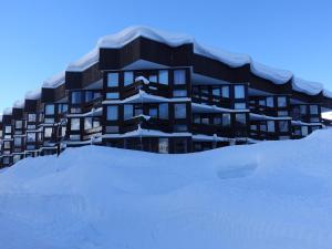
[[[100,49],[121,49],[138,37],[147,38],[149,40],[157,41],[169,46],[193,44],[194,53],[220,61],[231,68],[239,68],[246,64],[250,64],[250,71],[255,75],[269,80],[274,84],[286,84],[294,77],[293,73],[290,71],[273,69],[258,63],[247,54],[231,53],[219,49],[209,48],[198,43],[191,35],[169,33],[147,27],[128,27],[118,33],[101,38],[91,52],[82,56],[80,60],[70,63],[66,68],[66,71],[82,72],[98,62]],[[292,86],[293,90],[307,93],[309,95],[315,95],[319,93],[319,90],[323,90],[322,84],[320,83],[299,79],[293,80]],[[328,91],[324,91],[323,94],[328,97],[332,96],[332,93]]]

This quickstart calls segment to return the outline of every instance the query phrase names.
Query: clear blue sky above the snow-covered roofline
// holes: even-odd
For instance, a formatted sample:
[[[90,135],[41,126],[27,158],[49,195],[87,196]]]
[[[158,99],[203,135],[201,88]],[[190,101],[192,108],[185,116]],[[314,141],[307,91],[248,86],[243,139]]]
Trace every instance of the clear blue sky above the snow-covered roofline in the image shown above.
[[[0,113],[128,25],[200,43],[322,82],[332,90],[329,0],[11,0],[0,2]]]

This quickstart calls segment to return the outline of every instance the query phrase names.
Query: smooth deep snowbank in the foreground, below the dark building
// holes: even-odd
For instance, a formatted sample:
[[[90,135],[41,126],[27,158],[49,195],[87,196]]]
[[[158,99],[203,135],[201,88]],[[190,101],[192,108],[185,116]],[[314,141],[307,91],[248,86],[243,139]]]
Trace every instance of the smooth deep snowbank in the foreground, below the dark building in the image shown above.
[[[331,143],[28,158],[0,172],[0,248],[331,249]]]

